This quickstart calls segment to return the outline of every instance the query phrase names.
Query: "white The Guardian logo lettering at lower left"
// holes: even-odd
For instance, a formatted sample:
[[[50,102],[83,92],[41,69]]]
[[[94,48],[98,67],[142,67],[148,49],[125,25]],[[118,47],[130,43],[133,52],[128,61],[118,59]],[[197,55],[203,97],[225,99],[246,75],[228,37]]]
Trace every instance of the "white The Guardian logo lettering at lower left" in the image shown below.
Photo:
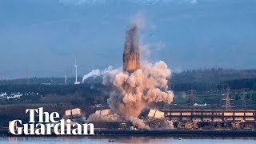
[[[78,124],[71,122],[70,119],[59,119],[59,114],[57,112],[48,113],[44,112],[43,108],[38,109],[26,109],[26,114],[30,114],[30,122],[22,124],[22,120],[14,120],[9,123],[10,134],[20,135],[82,135],[82,134],[94,134],[94,124],[85,123]],[[38,114],[38,123],[34,120],[34,115]]]

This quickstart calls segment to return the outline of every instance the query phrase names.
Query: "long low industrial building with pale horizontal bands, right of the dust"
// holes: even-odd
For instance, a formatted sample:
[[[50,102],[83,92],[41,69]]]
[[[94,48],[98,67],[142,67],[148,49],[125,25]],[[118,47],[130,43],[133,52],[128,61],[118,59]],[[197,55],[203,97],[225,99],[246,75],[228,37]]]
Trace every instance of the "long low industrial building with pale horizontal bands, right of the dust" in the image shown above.
[[[162,110],[174,128],[186,130],[255,130],[256,110]]]

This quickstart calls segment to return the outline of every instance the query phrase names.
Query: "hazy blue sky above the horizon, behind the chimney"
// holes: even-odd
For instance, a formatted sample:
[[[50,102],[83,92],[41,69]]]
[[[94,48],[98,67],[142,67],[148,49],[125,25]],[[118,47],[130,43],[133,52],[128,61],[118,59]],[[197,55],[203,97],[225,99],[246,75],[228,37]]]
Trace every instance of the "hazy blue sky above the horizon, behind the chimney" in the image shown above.
[[[1,0],[0,78],[71,76],[75,57],[80,76],[122,66],[134,18],[150,62],[256,68],[255,0]]]

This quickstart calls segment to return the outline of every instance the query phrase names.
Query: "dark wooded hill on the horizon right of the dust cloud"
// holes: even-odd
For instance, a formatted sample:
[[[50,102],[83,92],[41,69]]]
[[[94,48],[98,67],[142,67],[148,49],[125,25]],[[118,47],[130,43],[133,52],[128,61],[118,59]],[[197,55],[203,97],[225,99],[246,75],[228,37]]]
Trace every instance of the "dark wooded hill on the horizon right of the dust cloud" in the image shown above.
[[[211,91],[223,90],[227,86],[233,89],[253,88],[239,82],[234,86],[234,80],[256,78],[256,70],[227,70],[227,69],[206,69],[187,70],[178,74],[173,74],[169,86],[174,91],[198,90]],[[250,81],[254,85],[254,80]],[[249,87],[248,87],[249,86]]]

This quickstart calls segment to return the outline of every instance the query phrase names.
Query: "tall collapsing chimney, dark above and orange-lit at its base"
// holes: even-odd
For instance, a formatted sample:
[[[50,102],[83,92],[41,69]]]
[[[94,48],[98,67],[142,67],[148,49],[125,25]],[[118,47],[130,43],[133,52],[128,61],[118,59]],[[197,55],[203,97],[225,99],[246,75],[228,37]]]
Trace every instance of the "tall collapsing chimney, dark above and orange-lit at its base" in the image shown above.
[[[140,66],[140,50],[138,45],[138,26],[133,25],[126,31],[125,49],[123,52],[123,70],[129,73]]]

